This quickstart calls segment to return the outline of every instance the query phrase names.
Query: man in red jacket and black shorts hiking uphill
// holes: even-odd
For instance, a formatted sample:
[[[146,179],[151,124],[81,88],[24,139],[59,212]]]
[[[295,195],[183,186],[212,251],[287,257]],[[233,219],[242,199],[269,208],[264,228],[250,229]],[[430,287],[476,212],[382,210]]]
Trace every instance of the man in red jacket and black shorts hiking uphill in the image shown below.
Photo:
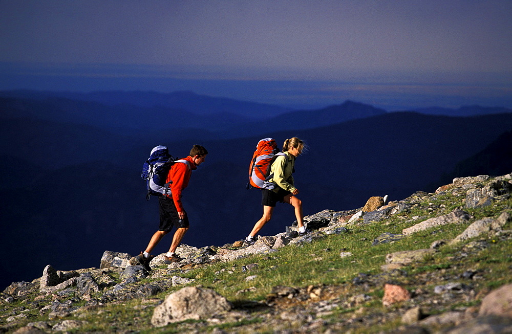
[[[194,145],[188,157],[182,159],[181,162],[175,162],[170,167],[166,180],[166,183],[171,182],[170,194],[158,196],[160,226],[158,231],[151,237],[146,250],[134,257],[146,270],[151,270],[150,261],[154,258],[151,252],[162,240],[163,236],[173,229],[173,226],[176,226],[176,232],[174,232],[169,252],[165,254],[164,262],[170,264],[182,260],[175,252],[183,236],[188,231],[189,222],[181,202],[181,193],[187,187],[192,171],[204,162],[206,154],[208,154],[206,148],[201,145]]]

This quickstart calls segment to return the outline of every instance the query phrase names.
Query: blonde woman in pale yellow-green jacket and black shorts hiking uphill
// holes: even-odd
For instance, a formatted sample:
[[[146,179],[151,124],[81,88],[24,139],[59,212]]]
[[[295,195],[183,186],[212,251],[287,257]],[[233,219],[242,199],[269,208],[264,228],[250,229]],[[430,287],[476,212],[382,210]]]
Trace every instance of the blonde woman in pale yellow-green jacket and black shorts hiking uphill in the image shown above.
[[[271,166],[270,175],[271,179],[268,181],[275,184],[274,189],[262,189],[263,216],[254,225],[251,233],[245,238],[249,244],[254,244],[256,239],[255,235],[267,224],[272,218],[275,204],[278,202],[288,203],[295,209],[295,217],[298,223],[298,234],[305,235],[307,232],[304,226],[304,214],[302,212],[302,201],[295,195],[298,194],[298,189],[293,185],[293,166],[295,159],[304,150],[304,142],[296,137],[285,140],[283,145],[284,155],[278,155]]]

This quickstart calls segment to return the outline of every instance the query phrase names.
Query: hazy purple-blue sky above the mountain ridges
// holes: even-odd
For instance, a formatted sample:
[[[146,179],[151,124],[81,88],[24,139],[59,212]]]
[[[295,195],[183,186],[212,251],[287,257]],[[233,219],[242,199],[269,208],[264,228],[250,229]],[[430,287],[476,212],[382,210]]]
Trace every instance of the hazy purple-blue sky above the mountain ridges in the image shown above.
[[[512,107],[512,1],[0,0],[0,89]]]

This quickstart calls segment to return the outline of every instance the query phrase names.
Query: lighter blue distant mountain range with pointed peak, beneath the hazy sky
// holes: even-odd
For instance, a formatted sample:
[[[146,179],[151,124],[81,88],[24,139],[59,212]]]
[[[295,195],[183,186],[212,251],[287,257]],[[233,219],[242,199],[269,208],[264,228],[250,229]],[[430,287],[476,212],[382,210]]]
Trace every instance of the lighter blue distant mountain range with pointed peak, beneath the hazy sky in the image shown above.
[[[125,93],[123,96],[127,96],[126,94],[129,93]],[[196,114],[190,110],[194,110],[200,102],[190,102],[188,108],[185,108],[187,105],[184,100],[177,104],[169,104],[179,107],[150,107],[126,103],[111,105],[83,99],[72,100],[47,93],[36,93],[32,98],[29,98],[31,94],[27,93],[11,95],[14,96],[1,97],[2,93],[0,92],[1,118],[31,118],[51,122],[85,124],[105,130],[115,130],[121,135],[152,138],[162,135],[171,135],[174,136],[174,139],[182,138],[182,136],[240,138],[257,135],[262,131],[315,128],[386,114],[386,110],[350,100],[318,110],[298,110],[278,116],[274,116],[276,113],[274,110],[273,117],[255,119],[251,117],[253,113],[247,112],[253,107],[251,103],[245,107],[241,106],[244,113],[218,112],[218,110],[234,106],[230,101],[226,102],[226,99],[213,99],[217,101],[218,105],[218,107],[212,106],[215,113],[212,113],[210,109],[207,113]],[[20,96],[15,97],[15,95]],[[21,97],[21,95],[27,97]],[[184,95],[196,101],[203,99],[189,93],[184,93]],[[212,101],[211,98],[207,98],[207,100]],[[221,107],[221,104],[226,104],[226,107]],[[239,104],[244,104],[244,102]]]

